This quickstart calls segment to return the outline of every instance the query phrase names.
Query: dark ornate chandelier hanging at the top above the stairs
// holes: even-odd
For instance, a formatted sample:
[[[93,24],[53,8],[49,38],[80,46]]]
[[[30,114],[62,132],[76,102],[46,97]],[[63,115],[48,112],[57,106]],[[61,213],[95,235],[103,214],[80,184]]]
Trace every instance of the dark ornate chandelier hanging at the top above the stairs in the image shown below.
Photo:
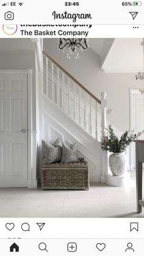
[[[86,38],[59,38],[58,47],[67,53],[68,59],[79,59],[79,53],[83,53],[84,49],[89,47]]]

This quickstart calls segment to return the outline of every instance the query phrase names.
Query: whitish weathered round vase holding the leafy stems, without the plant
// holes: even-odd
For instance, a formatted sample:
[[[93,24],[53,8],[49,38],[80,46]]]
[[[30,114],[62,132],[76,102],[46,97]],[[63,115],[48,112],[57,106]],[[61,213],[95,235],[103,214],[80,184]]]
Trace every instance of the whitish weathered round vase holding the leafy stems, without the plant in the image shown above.
[[[109,156],[109,167],[113,175],[123,175],[127,170],[127,156],[124,153],[112,153]]]

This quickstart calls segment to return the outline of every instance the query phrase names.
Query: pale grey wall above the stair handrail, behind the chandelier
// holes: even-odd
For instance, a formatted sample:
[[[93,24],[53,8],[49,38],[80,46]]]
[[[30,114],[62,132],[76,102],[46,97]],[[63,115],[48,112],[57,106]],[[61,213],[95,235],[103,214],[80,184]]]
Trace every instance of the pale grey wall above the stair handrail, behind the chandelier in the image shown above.
[[[135,73],[104,73],[99,68],[99,56],[92,49],[84,51],[79,60],[68,60],[67,54],[59,51],[57,38],[44,39],[44,51],[97,98],[106,91],[107,109],[112,109],[107,119],[120,131],[129,129],[129,88],[143,87],[142,81],[135,80]]]

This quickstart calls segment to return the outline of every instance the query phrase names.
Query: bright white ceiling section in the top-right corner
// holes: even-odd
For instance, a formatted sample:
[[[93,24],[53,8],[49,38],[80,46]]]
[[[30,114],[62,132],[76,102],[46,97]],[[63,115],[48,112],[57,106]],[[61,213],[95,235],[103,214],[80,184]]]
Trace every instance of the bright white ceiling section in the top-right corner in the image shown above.
[[[110,73],[143,71],[142,38],[116,38],[106,56],[103,70]]]

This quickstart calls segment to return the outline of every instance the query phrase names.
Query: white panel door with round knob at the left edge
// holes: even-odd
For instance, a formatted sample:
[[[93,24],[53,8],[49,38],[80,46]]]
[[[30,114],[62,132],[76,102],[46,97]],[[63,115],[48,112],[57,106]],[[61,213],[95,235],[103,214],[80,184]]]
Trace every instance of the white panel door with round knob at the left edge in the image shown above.
[[[0,188],[14,187],[27,187],[27,75],[6,73],[0,74]]]

